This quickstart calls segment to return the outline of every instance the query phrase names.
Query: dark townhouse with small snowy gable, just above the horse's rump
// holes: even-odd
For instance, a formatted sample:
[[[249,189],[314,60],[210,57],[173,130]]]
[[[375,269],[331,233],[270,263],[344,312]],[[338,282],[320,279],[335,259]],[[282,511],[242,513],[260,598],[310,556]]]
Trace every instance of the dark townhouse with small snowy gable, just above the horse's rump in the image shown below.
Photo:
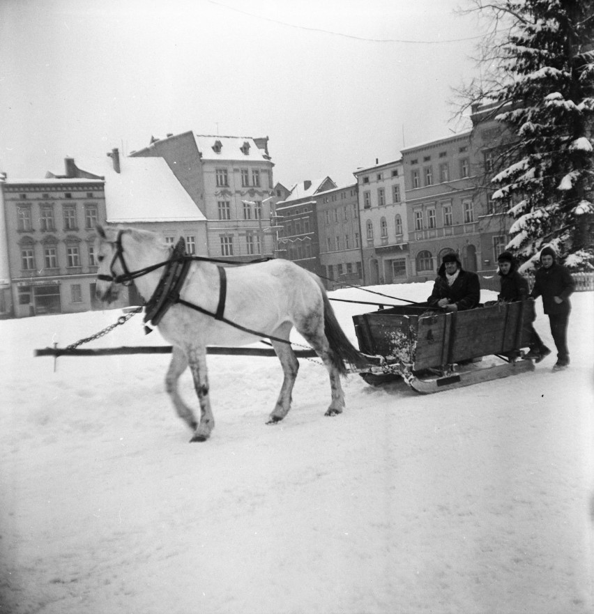
[[[289,195],[276,203],[277,257],[322,275],[316,195],[335,187],[330,177],[306,180],[294,185]]]

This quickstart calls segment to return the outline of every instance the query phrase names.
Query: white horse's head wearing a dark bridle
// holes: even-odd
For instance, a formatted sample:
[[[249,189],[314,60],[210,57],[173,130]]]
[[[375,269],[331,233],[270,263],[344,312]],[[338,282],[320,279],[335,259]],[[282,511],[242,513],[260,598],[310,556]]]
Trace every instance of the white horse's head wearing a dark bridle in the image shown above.
[[[119,296],[121,281],[118,278],[126,273],[122,255],[122,236],[125,232],[122,229],[104,229],[102,226],[97,226],[98,270],[95,295],[103,302],[114,302]]]

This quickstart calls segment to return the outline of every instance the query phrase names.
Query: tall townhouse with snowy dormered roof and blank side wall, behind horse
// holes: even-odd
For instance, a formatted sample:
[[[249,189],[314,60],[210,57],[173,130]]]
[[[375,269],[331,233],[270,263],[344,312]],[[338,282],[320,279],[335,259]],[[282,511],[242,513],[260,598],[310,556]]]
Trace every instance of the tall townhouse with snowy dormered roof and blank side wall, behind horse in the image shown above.
[[[184,132],[151,138],[131,158],[162,158],[206,218],[208,256],[248,261],[274,252],[268,137]]]

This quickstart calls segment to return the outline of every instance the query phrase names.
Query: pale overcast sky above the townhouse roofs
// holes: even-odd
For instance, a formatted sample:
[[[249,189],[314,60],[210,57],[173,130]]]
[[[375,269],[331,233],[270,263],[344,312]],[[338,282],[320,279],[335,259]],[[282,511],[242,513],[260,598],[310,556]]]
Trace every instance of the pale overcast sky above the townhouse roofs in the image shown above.
[[[267,135],[287,187],[347,185],[469,127],[450,121],[478,73],[465,1],[0,0],[0,171],[192,130]]]

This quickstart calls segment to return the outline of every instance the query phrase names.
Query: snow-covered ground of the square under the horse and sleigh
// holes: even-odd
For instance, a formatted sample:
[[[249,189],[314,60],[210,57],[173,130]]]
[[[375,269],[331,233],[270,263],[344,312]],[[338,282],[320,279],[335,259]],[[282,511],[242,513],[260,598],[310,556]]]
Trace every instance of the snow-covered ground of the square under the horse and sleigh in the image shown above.
[[[211,356],[192,445],[167,355],[33,358],[120,312],[0,322],[0,612],[591,613],[594,293],[572,302],[568,371],[429,396],[350,376],[334,418],[314,362],[266,426],[280,363]],[[354,340],[368,309],[334,305]],[[552,347],[540,300],[536,328]],[[91,347],[156,343],[135,316]]]

